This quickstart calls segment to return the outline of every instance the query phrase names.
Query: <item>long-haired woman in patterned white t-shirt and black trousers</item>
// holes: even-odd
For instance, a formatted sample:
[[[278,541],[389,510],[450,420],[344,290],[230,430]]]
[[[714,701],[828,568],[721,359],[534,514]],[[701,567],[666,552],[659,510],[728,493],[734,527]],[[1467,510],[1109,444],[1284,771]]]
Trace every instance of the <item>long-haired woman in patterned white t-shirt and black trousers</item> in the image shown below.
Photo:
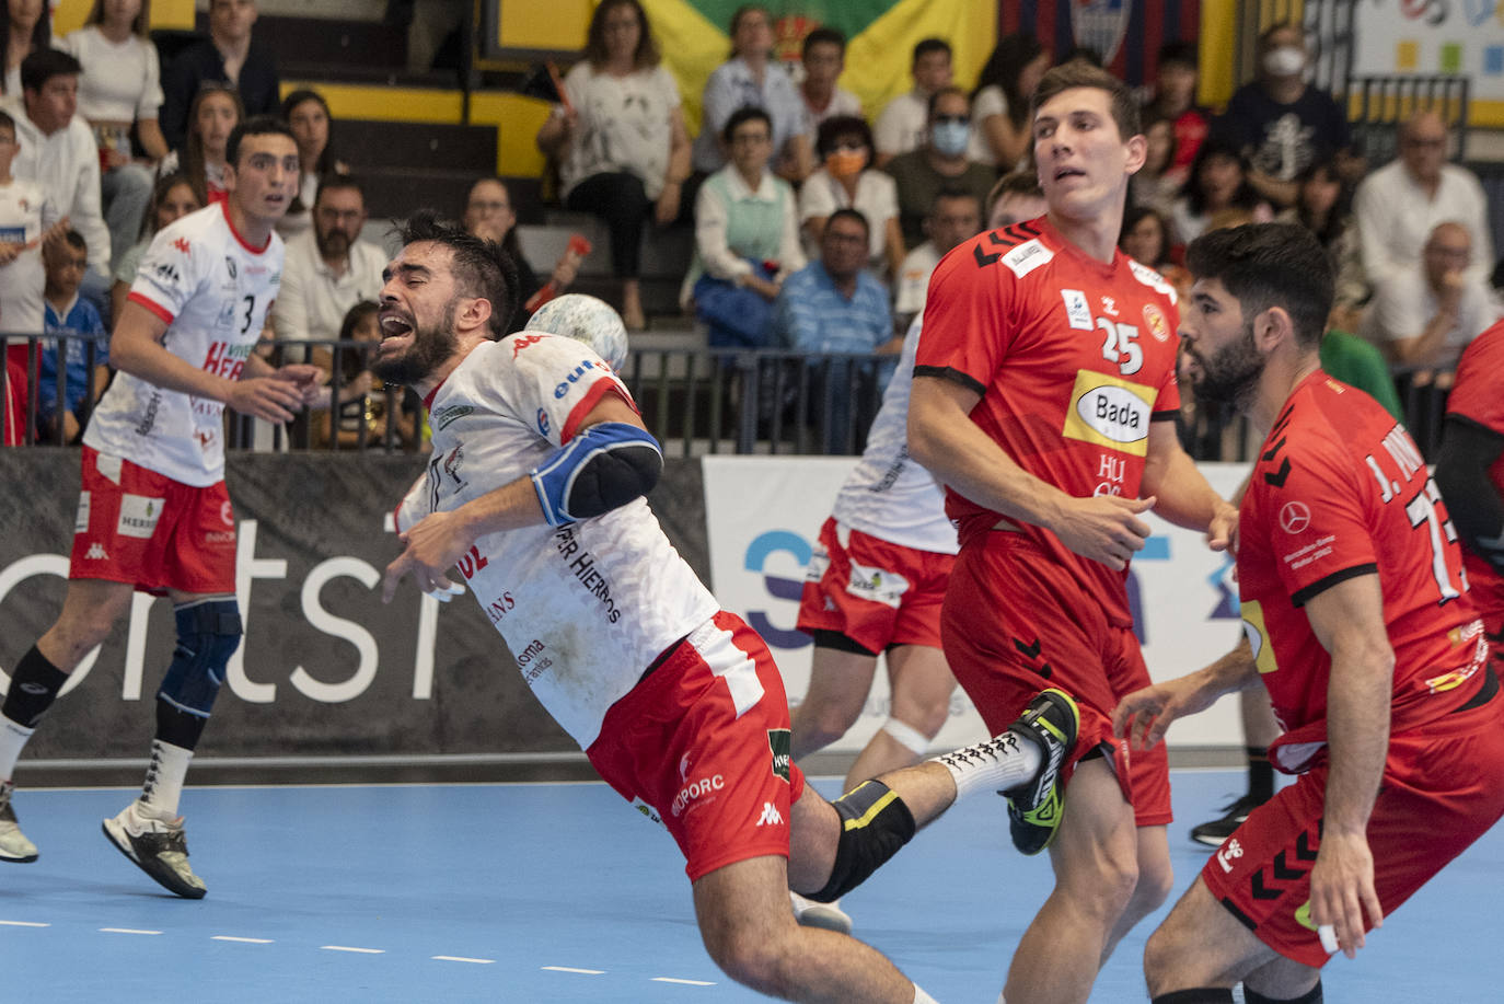
[[[538,129],[538,149],[559,161],[564,205],[611,230],[621,319],[641,330],[642,229],[648,212],[659,226],[678,218],[690,146],[678,86],[659,62],[638,0],[596,8],[585,59],[564,78],[562,98]]]

